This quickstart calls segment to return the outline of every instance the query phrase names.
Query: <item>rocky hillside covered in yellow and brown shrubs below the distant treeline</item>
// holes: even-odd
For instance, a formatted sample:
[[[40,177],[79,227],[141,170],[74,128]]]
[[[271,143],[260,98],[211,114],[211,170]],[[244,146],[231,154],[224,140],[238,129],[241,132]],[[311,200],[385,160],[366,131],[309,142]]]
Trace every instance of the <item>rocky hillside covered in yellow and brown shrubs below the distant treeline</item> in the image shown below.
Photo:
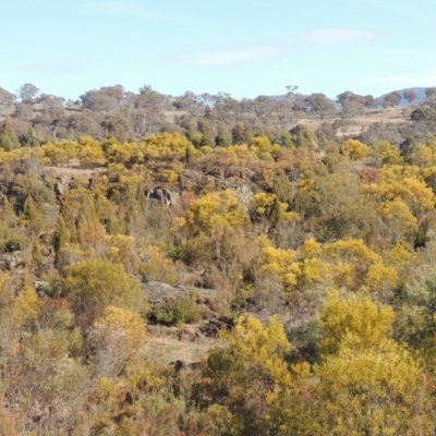
[[[0,149],[2,434],[432,434],[436,140],[347,138],[402,117]]]

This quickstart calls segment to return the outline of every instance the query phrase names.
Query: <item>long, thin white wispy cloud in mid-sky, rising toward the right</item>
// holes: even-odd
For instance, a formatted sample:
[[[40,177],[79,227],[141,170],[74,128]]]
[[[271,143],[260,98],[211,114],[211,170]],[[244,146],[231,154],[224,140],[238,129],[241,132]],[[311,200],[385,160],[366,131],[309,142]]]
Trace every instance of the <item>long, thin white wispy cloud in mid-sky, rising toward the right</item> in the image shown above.
[[[195,66],[234,66],[280,58],[307,47],[338,44],[356,44],[375,39],[378,35],[353,28],[315,29],[277,43],[201,50],[180,53],[170,61]]]

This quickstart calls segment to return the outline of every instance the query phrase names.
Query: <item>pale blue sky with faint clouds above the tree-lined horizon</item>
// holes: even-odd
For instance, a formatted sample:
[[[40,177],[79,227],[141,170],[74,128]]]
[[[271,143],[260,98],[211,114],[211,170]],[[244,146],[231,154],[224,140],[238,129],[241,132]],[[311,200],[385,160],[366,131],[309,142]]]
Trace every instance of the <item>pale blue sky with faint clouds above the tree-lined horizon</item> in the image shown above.
[[[436,0],[14,0],[0,86],[234,98],[436,86]]]

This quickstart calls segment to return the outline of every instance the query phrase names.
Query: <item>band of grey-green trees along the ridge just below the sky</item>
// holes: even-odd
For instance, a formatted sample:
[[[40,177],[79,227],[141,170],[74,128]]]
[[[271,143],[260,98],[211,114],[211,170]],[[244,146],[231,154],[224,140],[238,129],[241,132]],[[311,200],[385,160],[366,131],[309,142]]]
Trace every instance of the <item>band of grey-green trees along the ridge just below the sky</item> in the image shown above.
[[[368,137],[375,136],[375,140],[387,138],[399,145],[423,130],[433,132],[429,121],[433,120],[434,89],[426,88],[425,102],[411,110],[411,120],[420,121],[420,125],[405,122],[405,119],[399,125],[374,124],[360,140],[368,143]],[[407,89],[402,95],[389,93],[383,101],[347,90],[337,96],[336,104],[322,93],[299,94],[298,86],[288,86],[287,90],[280,98],[258,96],[237,100],[226,93],[196,95],[187,90],[174,97],[160,94],[149,85],[141,87],[138,93],[114,85],[88,90],[77,101],[65,101],[27,83],[20,87],[17,95],[0,88],[0,114],[7,116],[3,129],[7,126],[16,136],[14,146],[16,141],[21,146],[38,146],[86,135],[99,141],[108,136],[121,142],[140,141],[145,135],[162,132],[183,133],[195,146],[226,146],[259,134],[268,134],[275,141],[282,136],[281,142],[286,143],[289,131],[304,117],[340,117],[342,121],[324,126],[326,133],[330,130],[330,136],[331,133],[337,135],[349,118],[393,108],[401,98],[411,105],[417,100],[413,89]],[[241,136],[241,129],[245,129],[246,137]],[[395,134],[389,133],[389,129]],[[10,136],[10,133],[4,135]],[[7,147],[12,144],[7,144],[10,138],[2,141]]]

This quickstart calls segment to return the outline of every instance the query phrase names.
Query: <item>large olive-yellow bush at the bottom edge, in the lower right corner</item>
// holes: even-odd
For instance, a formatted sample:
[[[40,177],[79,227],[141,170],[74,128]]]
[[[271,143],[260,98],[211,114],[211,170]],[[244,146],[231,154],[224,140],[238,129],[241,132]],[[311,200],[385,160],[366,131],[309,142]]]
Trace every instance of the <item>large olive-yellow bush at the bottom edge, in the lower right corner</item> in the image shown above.
[[[386,338],[370,348],[358,342],[348,334],[338,354],[315,370],[323,434],[433,434],[413,356]]]

